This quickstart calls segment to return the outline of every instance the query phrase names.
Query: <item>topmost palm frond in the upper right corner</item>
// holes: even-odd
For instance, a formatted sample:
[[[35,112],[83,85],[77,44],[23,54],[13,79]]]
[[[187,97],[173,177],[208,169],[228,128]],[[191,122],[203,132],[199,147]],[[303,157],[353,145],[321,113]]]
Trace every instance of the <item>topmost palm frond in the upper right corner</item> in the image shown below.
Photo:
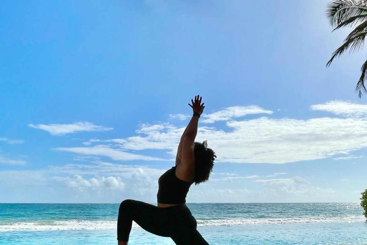
[[[326,6],[326,17],[333,27],[361,14],[367,14],[366,0],[334,0]]]

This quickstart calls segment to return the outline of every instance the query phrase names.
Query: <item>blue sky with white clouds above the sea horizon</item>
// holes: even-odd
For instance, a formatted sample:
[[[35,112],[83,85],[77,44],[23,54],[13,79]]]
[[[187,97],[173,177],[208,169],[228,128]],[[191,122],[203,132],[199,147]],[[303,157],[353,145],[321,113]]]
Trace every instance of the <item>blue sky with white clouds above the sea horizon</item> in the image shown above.
[[[363,50],[328,1],[7,1],[0,202],[156,202],[200,94],[217,154],[187,202],[359,202]]]

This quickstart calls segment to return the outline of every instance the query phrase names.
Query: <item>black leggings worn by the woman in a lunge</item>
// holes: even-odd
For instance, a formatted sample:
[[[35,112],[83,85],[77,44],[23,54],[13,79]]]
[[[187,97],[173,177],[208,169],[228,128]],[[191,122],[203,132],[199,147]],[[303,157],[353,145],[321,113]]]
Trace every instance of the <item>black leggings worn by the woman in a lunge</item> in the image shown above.
[[[186,204],[158,208],[141,201],[124,200],[117,218],[117,240],[129,240],[132,220],[150,233],[170,237],[177,245],[209,245],[197,231],[196,220]]]

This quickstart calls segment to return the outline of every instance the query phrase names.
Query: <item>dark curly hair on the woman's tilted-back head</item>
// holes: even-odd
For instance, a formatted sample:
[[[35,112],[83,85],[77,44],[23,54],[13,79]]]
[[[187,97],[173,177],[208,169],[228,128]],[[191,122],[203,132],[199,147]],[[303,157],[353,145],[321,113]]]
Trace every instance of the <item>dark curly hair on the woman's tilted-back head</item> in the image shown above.
[[[207,140],[203,141],[203,143],[194,142],[195,185],[206,182],[209,179],[209,175],[214,166],[214,157],[217,158],[215,152],[207,148],[207,145]]]

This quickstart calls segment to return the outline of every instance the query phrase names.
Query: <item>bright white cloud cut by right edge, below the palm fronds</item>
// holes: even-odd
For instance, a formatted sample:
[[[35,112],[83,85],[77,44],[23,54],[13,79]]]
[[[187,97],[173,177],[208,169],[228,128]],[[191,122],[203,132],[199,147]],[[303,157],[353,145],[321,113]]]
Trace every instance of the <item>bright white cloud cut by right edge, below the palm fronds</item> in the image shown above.
[[[314,111],[328,111],[336,115],[348,117],[367,116],[367,105],[339,100],[329,101],[324,104],[312,105],[310,109]]]

